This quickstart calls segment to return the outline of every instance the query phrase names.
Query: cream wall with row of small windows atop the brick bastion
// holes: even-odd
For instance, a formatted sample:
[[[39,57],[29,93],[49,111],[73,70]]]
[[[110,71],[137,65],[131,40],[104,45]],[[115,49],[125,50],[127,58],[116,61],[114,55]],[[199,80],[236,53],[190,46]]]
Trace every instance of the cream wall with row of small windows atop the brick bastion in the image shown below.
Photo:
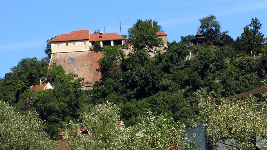
[[[81,45],[79,45],[79,42],[81,42]],[[84,42],[86,42],[86,45],[84,45]],[[68,46],[66,46],[66,43],[68,43]],[[75,45],[73,45],[73,43],[75,43]],[[58,47],[57,44],[59,44]],[[89,50],[89,40],[52,42],[51,48],[52,53]]]

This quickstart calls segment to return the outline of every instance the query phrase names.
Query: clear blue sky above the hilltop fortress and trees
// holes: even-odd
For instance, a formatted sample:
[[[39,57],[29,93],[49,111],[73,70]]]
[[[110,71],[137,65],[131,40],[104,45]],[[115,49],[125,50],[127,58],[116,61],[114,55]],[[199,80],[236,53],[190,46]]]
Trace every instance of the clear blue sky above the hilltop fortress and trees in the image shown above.
[[[46,40],[73,30],[127,33],[138,19],[158,21],[169,42],[195,35],[199,19],[209,14],[221,23],[221,31],[236,40],[243,28],[257,17],[267,36],[266,0],[129,0],[129,1],[1,1],[0,77],[23,58],[45,57]]]

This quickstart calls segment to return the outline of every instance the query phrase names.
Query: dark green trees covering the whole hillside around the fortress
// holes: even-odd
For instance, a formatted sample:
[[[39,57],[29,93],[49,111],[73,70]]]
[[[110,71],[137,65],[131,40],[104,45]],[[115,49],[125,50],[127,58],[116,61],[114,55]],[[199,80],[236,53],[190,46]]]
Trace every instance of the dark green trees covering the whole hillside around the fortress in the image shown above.
[[[215,21],[215,25],[207,26],[210,25],[207,21]],[[154,23],[156,29],[145,34],[155,35],[161,30]],[[151,49],[142,48],[147,45],[134,45],[128,56],[119,47],[101,47],[103,57],[98,61],[98,71],[102,78],[92,90],[77,88],[83,79],[73,73],[65,74],[60,65],[48,69],[49,57],[41,61],[24,58],[0,79],[0,99],[21,115],[36,112],[46,123],[44,131],[54,140],[58,139],[64,122],[79,123],[81,114],[107,101],[118,106],[120,120],[127,127],[139,122],[140,115],[145,115],[148,109],[167,114],[175,122],[190,127],[196,116],[203,115],[199,92],[204,90],[212,98],[247,92],[262,86],[267,72],[267,43],[257,18],[252,18],[235,41],[227,32],[220,31],[213,15],[201,18],[200,23],[201,34],[210,38],[207,43],[191,45],[189,40],[193,35],[181,36],[180,42],[168,42],[166,52],[156,52],[154,57],[149,55]],[[128,30],[129,42],[149,42],[134,35],[149,30],[150,26],[151,20],[138,20]],[[261,57],[249,57],[251,51],[252,55],[261,54]],[[226,58],[231,59],[227,62]],[[38,85],[41,77],[46,77],[55,88],[30,91],[31,85]],[[259,102],[266,101],[262,95],[256,96]]]

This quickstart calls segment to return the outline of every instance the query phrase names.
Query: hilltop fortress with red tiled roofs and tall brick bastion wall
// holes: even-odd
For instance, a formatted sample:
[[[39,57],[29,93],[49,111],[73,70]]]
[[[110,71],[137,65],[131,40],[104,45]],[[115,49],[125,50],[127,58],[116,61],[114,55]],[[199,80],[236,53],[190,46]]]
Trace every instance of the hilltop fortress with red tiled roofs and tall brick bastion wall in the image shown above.
[[[163,44],[167,46],[167,34],[159,31],[157,33],[163,40]],[[52,41],[52,55],[49,66],[52,64],[62,65],[65,73],[78,74],[84,78],[85,82],[98,81],[101,74],[96,71],[99,68],[97,61],[102,57],[102,52],[94,49],[96,41],[100,41],[101,46],[118,46],[125,43],[125,38],[117,33],[99,33],[89,34],[89,30],[72,31],[69,34],[61,34]],[[160,47],[163,52],[164,46]],[[124,49],[125,54],[131,52]],[[153,56],[151,54],[151,56]]]

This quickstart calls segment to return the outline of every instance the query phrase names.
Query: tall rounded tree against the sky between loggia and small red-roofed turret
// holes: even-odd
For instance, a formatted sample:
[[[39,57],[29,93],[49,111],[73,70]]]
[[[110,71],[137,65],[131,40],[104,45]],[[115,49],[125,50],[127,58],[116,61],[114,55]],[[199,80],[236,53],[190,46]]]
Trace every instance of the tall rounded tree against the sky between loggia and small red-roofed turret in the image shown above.
[[[153,47],[163,45],[163,41],[156,35],[158,31],[161,31],[161,26],[157,23],[157,21],[139,19],[128,29],[128,42],[134,50],[144,49],[150,52]]]

